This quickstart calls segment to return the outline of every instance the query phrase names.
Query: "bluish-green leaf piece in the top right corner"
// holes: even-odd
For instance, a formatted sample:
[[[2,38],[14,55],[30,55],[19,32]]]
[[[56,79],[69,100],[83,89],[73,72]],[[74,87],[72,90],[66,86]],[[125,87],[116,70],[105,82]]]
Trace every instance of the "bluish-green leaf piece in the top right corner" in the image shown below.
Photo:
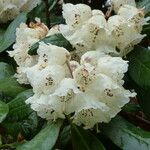
[[[149,0],[140,0],[139,2],[137,2],[137,7],[138,8],[145,7],[145,13],[146,14],[150,12],[150,2],[149,2]]]

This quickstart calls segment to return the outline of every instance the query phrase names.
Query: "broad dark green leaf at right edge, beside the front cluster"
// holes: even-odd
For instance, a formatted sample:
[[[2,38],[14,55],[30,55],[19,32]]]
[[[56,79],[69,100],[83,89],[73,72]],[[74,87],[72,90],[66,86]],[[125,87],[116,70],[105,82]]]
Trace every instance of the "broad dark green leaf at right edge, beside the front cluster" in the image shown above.
[[[128,59],[131,79],[140,87],[150,88],[150,50],[137,46]]]

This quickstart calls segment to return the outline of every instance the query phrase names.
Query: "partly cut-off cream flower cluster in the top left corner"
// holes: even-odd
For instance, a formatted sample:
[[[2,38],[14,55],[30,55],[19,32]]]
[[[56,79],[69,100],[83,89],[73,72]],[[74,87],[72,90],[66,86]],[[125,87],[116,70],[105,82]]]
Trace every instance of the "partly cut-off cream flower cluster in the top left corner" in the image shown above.
[[[0,0],[0,22],[14,19],[20,12],[32,10],[41,0]]]

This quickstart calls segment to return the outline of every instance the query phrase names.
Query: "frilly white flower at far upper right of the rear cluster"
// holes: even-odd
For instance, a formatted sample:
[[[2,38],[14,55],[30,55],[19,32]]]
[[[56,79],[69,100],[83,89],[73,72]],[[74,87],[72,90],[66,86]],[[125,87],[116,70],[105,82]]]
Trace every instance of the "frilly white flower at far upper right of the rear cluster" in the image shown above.
[[[148,24],[147,21],[150,20],[150,17],[144,18],[144,8],[138,9],[130,5],[120,7],[118,15],[124,17],[126,22],[134,23],[134,27],[138,32],[141,32],[142,26]]]

